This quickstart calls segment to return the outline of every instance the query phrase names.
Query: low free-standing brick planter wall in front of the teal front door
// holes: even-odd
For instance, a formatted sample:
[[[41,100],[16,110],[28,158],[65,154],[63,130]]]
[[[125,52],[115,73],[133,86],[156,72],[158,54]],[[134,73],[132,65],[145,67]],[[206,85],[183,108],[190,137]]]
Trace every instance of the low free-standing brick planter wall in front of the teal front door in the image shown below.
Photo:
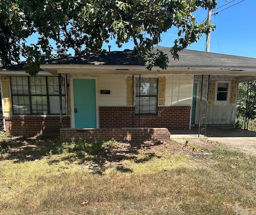
[[[64,141],[116,140],[149,141],[170,139],[166,128],[124,128],[124,129],[60,129],[60,139]]]

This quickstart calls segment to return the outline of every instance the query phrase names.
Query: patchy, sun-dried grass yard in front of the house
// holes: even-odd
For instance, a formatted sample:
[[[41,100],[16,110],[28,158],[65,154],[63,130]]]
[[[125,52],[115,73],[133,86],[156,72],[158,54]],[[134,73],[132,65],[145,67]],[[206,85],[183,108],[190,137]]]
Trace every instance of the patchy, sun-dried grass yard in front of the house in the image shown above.
[[[256,214],[256,157],[219,145],[0,135],[0,214]]]

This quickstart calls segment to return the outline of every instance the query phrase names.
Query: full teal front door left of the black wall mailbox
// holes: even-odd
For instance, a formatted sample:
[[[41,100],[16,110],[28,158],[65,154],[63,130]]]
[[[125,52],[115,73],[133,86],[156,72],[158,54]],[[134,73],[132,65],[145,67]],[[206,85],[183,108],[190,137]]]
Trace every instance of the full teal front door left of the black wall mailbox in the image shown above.
[[[76,128],[96,128],[95,79],[74,80],[74,112]]]

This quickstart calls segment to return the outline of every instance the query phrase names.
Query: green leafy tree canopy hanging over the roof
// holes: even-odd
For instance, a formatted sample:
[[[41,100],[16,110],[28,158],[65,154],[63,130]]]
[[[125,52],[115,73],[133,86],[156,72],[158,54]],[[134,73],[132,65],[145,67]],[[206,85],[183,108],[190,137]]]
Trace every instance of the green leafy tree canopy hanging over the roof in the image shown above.
[[[215,8],[216,0],[0,0],[0,64],[26,59],[26,71],[36,75],[45,60],[102,51],[102,45],[115,40],[118,47],[132,40],[134,54],[147,60],[146,68],[167,68],[162,52],[152,52],[160,35],[177,28],[178,39],[170,49],[178,52],[202,34],[214,30],[207,21],[197,22],[193,12],[202,7]],[[37,33],[35,44],[26,40]],[[52,46],[54,41],[54,48]]]

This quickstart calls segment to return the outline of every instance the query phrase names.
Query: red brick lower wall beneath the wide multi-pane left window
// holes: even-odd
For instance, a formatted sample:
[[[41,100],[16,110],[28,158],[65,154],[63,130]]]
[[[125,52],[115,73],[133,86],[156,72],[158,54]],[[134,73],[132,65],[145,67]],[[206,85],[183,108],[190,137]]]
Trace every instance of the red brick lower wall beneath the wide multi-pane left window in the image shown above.
[[[60,116],[6,116],[6,135],[58,135]],[[63,117],[63,127],[70,127],[70,117]]]

